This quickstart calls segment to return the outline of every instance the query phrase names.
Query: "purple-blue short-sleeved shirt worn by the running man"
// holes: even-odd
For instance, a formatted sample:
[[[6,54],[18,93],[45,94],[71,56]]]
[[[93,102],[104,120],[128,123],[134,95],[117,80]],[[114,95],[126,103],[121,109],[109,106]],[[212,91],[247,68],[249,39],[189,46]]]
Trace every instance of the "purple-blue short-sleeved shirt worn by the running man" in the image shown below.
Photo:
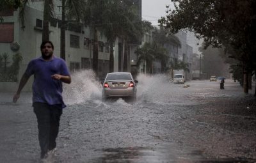
[[[52,79],[51,75],[70,75],[65,61],[54,56],[50,61],[44,61],[42,57],[29,62],[25,72],[29,77],[34,75],[33,103],[42,102],[49,105],[66,107],[62,98],[62,82]]]

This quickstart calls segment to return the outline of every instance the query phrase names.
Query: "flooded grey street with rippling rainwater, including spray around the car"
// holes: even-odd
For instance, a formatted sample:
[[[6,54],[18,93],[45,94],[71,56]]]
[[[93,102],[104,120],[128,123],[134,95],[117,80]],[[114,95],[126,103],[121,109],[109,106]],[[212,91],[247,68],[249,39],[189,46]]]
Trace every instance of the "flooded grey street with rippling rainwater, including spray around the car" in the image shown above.
[[[102,103],[91,72],[65,85],[55,162],[256,162],[255,83],[249,95],[232,80],[172,84],[138,76],[135,104]],[[37,162],[39,145],[31,93],[13,104],[0,93],[0,162]]]

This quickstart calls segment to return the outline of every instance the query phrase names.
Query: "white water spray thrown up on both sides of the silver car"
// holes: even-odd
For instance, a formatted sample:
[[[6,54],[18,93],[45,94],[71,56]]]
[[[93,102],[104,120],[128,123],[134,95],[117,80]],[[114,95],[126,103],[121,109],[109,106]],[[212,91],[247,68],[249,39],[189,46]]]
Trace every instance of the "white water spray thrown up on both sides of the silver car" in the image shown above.
[[[170,81],[163,74],[145,75],[140,74],[137,77],[139,83],[137,87],[137,102],[161,102],[170,96]],[[77,104],[83,102],[102,102],[102,86],[95,80],[95,73],[92,70],[81,70],[72,74],[72,83],[65,84],[63,98],[67,104]],[[111,100],[112,103],[126,104],[124,100]]]

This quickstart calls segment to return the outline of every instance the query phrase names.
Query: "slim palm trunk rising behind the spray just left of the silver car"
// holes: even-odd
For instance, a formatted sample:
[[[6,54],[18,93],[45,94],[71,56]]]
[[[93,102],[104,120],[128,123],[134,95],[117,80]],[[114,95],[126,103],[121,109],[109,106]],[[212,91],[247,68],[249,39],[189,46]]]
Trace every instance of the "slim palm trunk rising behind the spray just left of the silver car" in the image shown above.
[[[92,59],[92,69],[98,75],[98,32],[97,29],[94,27],[93,29],[93,59]]]

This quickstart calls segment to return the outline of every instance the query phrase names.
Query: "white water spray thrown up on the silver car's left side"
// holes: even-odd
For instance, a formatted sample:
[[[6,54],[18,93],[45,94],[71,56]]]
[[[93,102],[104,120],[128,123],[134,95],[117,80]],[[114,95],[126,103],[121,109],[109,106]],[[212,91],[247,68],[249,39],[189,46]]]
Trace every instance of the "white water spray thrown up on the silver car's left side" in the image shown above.
[[[71,84],[64,85],[63,98],[66,104],[101,100],[101,85],[92,70],[81,70],[71,75]]]

